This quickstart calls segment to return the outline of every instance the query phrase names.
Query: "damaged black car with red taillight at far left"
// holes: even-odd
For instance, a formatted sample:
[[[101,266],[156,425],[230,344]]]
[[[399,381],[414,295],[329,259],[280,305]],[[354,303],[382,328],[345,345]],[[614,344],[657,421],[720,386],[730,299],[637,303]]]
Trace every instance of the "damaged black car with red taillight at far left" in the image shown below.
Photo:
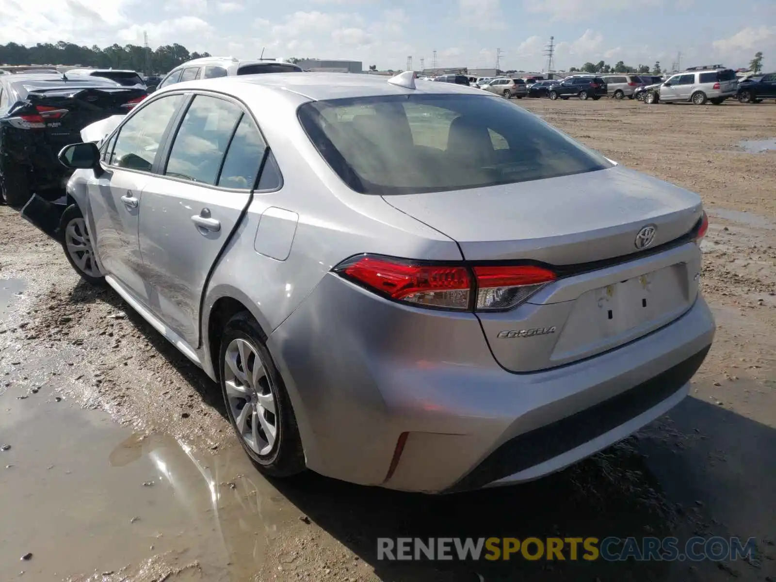
[[[64,74],[0,76],[0,203],[23,206],[33,192],[61,196],[71,170],[57,160],[81,130],[125,114],[147,96],[99,77]]]

